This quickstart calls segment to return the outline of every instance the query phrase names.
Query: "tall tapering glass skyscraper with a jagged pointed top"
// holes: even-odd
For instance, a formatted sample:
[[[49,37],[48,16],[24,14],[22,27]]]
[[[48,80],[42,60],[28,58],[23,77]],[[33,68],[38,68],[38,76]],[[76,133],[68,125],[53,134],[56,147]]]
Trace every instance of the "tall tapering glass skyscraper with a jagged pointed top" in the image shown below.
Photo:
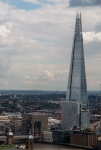
[[[81,102],[82,108],[88,107],[84,48],[81,14],[76,15],[76,25],[72,48],[70,72],[66,100]]]

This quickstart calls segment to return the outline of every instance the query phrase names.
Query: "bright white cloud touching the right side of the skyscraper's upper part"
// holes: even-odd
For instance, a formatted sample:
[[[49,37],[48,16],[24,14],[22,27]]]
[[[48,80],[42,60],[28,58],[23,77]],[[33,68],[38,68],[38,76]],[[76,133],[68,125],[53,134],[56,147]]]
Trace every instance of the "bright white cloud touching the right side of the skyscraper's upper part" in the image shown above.
[[[84,42],[101,42],[101,32],[83,32]]]

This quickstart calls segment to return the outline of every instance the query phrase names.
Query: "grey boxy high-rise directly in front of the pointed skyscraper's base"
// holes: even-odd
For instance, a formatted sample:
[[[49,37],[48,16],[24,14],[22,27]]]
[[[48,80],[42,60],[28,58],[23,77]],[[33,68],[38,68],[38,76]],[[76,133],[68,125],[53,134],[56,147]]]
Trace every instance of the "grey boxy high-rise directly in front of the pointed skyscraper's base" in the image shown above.
[[[80,126],[80,111],[81,105],[79,102],[64,101],[62,102],[62,128],[71,128]]]

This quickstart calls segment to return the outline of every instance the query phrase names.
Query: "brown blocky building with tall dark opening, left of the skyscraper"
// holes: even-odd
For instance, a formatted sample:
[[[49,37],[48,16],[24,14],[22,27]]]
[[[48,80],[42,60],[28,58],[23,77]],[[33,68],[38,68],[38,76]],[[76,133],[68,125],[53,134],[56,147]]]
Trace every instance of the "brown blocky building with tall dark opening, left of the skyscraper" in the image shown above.
[[[48,130],[48,115],[40,113],[28,113],[22,115],[22,135],[26,135],[29,131],[34,136],[42,135]]]

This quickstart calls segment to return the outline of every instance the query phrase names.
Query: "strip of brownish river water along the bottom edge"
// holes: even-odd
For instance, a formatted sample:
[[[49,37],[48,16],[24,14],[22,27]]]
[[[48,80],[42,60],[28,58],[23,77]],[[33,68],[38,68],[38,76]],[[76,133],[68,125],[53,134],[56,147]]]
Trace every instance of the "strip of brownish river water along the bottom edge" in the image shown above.
[[[83,149],[72,148],[72,147],[61,146],[61,145],[35,143],[34,150],[83,150]]]

